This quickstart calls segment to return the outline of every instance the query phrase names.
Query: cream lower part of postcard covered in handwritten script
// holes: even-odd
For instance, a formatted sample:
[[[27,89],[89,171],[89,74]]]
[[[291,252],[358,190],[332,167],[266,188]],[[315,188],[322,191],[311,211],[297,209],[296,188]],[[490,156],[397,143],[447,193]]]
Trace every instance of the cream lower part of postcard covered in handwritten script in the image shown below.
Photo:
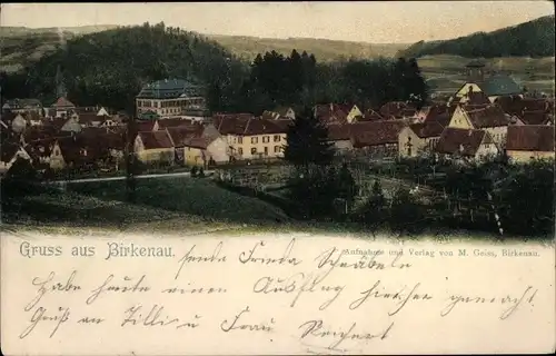
[[[467,339],[468,349],[453,349],[460,353],[499,350],[508,333],[523,342],[533,324],[554,327],[546,247],[504,257],[509,248],[499,246],[326,237],[85,241],[2,239],[3,347],[374,354]],[[538,347],[554,342],[548,327],[535,333]]]

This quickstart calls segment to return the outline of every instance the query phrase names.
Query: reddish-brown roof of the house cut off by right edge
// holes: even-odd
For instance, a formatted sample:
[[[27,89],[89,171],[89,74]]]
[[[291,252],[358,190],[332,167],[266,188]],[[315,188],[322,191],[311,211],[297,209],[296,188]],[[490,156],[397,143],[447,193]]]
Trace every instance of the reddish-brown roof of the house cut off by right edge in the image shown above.
[[[508,127],[506,150],[554,151],[554,127],[546,125],[516,125]]]

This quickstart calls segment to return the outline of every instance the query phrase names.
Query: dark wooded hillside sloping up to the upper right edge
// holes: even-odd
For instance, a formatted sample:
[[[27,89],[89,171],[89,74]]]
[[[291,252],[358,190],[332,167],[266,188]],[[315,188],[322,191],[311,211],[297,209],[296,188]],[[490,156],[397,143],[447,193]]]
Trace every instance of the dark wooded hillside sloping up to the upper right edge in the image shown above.
[[[451,55],[466,58],[554,57],[554,16],[445,41],[419,41],[398,56]]]

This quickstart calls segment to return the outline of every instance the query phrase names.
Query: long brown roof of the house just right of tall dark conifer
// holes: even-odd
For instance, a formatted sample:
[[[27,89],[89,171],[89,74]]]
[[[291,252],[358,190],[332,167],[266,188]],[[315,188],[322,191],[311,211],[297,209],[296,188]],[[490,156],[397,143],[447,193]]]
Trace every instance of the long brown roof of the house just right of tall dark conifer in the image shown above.
[[[396,144],[403,120],[364,121],[351,123],[351,145],[355,148]]]

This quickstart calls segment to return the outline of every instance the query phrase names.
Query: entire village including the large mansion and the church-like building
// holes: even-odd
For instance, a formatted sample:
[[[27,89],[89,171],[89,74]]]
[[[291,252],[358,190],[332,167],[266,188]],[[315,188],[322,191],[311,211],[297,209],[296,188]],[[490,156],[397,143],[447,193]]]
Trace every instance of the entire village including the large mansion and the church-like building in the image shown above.
[[[409,102],[375,109],[321,103],[314,115],[346,160],[431,154],[460,161],[500,155],[514,162],[554,158],[554,98],[528,96],[504,73],[485,78],[483,67],[471,61],[457,92],[421,108]],[[9,100],[0,121],[1,171],[24,159],[44,177],[67,179],[59,174],[70,170],[79,177],[123,175],[126,152],[167,172],[282,161],[295,108],[268,108],[258,117],[210,113],[200,92],[181,79],[153,82],[138,93],[136,118],[101,106],[79,107],[63,96],[50,106]]]

